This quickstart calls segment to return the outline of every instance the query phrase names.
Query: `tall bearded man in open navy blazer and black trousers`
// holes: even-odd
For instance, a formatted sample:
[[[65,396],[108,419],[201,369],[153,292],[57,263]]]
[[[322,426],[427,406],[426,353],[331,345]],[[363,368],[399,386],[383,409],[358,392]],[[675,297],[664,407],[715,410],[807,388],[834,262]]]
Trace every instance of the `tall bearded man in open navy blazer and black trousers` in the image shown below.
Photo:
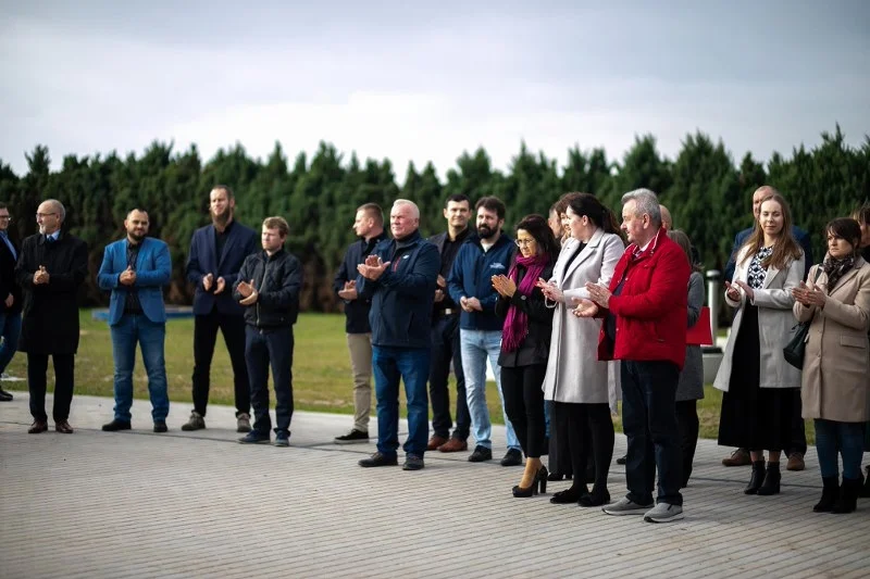
[[[251,430],[251,394],[245,365],[245,310],[233,300],[233,286],[248,255],[257,252],[257,231],[234,219],[236,200],[226,185],[209,193],[211,225],[194,232],[187,259],[187,279],[194,295],[194,412],[182,430],[206,428],[211,361],[217,329],[224,335],[236,399],[236,431]]]

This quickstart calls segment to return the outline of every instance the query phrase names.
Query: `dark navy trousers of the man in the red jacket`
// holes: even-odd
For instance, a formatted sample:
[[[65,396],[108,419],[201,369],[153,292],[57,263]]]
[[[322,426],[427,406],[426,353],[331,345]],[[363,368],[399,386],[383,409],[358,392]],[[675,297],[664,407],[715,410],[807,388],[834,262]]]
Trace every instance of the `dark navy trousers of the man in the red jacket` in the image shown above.
[[[676,426],[676,364],[664,361],[623,360],[622,426],[629,441],[625,483],[629,500],[652,503],[656,468],[659,471],[658,502],[682,505],[680,494],[682,458]]]

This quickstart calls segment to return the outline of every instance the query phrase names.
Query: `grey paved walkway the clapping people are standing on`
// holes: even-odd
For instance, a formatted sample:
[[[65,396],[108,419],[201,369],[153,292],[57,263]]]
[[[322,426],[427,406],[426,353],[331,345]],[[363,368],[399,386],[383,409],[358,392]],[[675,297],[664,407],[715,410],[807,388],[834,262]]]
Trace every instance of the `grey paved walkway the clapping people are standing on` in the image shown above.
[[[277,449],[237,444],[228,407],[195,433],[179,430],[189,404],[173,403],[167,435],[149,412],[137,400],[135,429],[105,433],[112,401],[76,397],[75,435],[33,436],[26,393],[0,403],[0,577],[870,576],[870,499],[813,514],[812,452],[782,494],[746,496],[748,468],[722,467],[726,450],[700,441],[686,518],[650,525],[513,499],[521,469],[468,453],[430,453],[419,473],[359,468],[373,443],[332,442],[350,416],[297,413]],[[504,440],[496,427],[497,457]],[[610,492],[624,491],[614,464]]]

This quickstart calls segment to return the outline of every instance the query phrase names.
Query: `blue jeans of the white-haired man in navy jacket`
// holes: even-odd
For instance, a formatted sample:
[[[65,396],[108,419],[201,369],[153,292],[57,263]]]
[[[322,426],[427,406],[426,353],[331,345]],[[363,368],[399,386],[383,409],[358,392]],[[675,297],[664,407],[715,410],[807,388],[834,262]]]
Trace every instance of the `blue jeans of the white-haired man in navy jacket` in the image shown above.
[[[399,379],[408,403],[407,454],[423,457],[428,439],[427,348],[372,347],[372,372],[377,399],[377,451],[396,456],[399,448]]]

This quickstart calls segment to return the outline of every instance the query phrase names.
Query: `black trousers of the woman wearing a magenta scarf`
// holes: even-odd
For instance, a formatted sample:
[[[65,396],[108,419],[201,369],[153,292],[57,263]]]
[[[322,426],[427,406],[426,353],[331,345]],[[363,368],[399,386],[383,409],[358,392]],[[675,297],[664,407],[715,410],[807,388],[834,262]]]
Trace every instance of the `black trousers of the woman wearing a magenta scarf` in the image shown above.
[[[530,458],[544,454],[547,425],[544,417],[544,375],[546,364],[533,364],[510,368],[501,366],[501,394],[505,397],[505,412],[513,425],[517,439]]]

